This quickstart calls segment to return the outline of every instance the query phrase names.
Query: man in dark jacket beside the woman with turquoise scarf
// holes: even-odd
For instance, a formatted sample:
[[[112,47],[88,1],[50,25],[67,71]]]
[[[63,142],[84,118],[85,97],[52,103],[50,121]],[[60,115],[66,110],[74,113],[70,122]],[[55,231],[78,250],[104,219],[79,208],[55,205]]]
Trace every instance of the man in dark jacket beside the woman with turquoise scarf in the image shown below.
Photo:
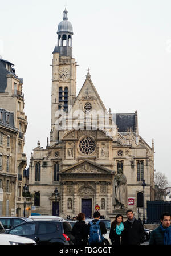
[[[141,221],[136,220],[133,211],[127,210],[128,220],[124,222],[124,244],[140,245],[144,242],[144,227]]]

